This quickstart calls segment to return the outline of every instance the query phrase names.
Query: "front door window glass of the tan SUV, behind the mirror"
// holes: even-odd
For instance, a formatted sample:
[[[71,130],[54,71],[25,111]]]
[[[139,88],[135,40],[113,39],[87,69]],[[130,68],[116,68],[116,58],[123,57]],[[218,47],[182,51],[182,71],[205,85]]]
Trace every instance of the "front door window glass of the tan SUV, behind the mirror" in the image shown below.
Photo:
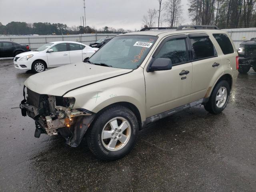
[[[187,62],[186,39],[175,38],[167,41],[155,58],[169,58],[172,65]]]

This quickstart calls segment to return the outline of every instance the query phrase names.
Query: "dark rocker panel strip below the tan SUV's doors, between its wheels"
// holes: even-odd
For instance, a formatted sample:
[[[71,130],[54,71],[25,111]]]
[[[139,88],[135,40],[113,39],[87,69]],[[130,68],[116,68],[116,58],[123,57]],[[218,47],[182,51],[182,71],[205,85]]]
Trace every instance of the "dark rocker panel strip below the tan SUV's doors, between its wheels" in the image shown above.
[[[202,103],[206,103],[206,102],[208,102],[208,100],[209,100],[209,98],[202,98],[200,100],[191,102],[189,104],[182,105],[180,107],[174,108],[172,110],[169,110],[169,111],[166,111],[166,112],[163,112],[163,113],[160,113],[160,114],[148,117],[148,118],[146,118],[146,121],[142,122],[142,128],[144,128],[146,125],[148,125],[148,124],[150,124],[152,122],[158,121],[158,120],[160,120],[162,118],[165,118],[165,117],[168,117],[168,116],[171,116],[171,115],[173,115],[173,114],[175,114],[177,112],[183,111],[185,109],[189,109],[191,107],[200,105]]]

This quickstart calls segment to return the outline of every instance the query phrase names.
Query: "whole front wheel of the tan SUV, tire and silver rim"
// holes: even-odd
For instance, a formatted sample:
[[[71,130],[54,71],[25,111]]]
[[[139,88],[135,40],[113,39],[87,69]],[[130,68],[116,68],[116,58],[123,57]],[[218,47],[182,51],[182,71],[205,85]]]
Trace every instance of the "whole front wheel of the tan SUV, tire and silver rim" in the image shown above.
[[[112,106],[102,112],[87,134],[87,144],[100,160],[117,160],[132,150],[138,135],[138,120],[124,106]]]

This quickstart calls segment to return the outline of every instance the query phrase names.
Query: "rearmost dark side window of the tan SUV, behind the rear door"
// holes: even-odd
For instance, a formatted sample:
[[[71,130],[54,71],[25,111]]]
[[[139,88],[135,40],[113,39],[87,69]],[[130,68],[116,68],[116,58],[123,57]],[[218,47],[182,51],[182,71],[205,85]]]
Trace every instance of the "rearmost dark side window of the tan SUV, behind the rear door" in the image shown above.
[[[233,46],[226,34],[212,34],[218,44],[220,45],[220,48],[224,55],[234,53]]]

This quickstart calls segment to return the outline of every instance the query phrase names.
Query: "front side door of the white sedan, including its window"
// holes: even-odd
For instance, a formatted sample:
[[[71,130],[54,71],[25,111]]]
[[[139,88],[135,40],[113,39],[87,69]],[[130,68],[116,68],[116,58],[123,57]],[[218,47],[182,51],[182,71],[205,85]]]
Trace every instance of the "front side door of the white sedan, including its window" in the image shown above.
[[[66,43],[54,45],[53,52],[47,52],[48,66],[56,67],[70,64],[69,51]]]

